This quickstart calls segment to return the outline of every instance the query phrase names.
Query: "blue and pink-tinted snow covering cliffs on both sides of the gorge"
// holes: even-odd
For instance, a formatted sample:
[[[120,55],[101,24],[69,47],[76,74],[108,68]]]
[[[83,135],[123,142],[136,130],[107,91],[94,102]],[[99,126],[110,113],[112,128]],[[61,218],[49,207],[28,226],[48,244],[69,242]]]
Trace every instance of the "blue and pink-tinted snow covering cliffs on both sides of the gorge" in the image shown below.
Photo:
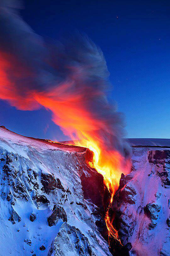
[[[128,141],[133,146],[133,171],[127,174],[132,175],[132,178],[121,191],[134,188],[136,194],[130,197],[135,200],[135,204],[119,202],[119,198],[113,200],[113,208],[117,207],[123,213],[121,227],[125,230],[130,226],[127,234],[121,238],[122,243],[132,244],[130,255],[169,255],[169,229],[166,222],[170,214],[169,188],[162,183],[162,165],[150,163],[148,151],[167,150],[170,139]],[[86,170],[77,155],[83,155],[85,150],[24,137],[0,127],[0,159],[4,159],[0,160],[0,255],[78,255],[75,245],[87,250],[88,243],[95,255],[111,255],[108,243],[98,232],[91,216],[94,205],[83,197],[80,168],[84,173]],[[7,161],[8,157],[12,162]],[[5,164],[7,170],[4,169]],[[166,170],[169,166],[170,162],[167,161]],[[64,190],[56,188],[49,193],[44,192],[41,182],[43,175],[59,179]],[[50,181],[47,184],[50,185]],[[36,196],[45,196],[47,202],[37,202]],[[155,229],[148,229],[150,219],[144,213],[144,207],[149,203],[161,206]],[[47,218],[52,214],[54,205],[65,210],[67,223],[60,218],[56,225],[49,227]],[[12,224],[9,221],[12,210],[20,216],[20,222]],[[30,221],[32,212],[37,216],[34,222]],[[71,229],[69,240],[68,231]],[[61,233],[65,240],[59,235]],[[76,237],[82,236],[85,242],[77,242]],[[42,245],[46,248],[44,251],[39,249]],[[53,252],[48,254],[52,248]],[[164,254],[158,254],[160,252]]]

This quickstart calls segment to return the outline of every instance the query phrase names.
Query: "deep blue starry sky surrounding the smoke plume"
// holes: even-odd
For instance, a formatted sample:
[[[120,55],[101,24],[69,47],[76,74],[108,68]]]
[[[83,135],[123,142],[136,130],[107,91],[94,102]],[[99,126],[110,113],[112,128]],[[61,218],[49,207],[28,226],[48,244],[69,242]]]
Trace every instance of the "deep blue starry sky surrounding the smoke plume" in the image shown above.
[[[170,2],[27,0],[21,11],[37,34],[58,39],[78,29],[104,52],[127,137],[170,138]],[[19,111],[0,101],[1,125],[64,140],[45,109]],[[49,126],[49,127],[48,127]],[[47,129],[48,128],[48,129]]]

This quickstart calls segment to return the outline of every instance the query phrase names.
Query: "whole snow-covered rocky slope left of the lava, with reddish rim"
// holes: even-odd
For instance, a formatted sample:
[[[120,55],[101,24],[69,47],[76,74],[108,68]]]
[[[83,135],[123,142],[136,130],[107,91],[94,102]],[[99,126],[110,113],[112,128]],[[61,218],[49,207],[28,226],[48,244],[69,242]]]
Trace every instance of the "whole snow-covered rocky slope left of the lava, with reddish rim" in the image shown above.
[[[108,191],[86,157],[0,128],[0,255],[111,255],[102,237]]]

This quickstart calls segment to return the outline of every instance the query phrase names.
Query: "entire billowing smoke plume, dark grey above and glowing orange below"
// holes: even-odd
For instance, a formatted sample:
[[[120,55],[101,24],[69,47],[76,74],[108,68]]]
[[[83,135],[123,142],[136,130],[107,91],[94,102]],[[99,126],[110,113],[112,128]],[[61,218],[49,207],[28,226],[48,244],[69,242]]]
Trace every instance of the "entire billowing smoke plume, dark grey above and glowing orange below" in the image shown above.
[[[80,33],[46,42],[22,20],[18,7],[15,1],[0,3],[0,98],[20,110],[51,110],[66,135],[93,150],[89,165],[113,192],[126,173],[129,148],[122,141],[122,114],[105,95],[110,84],[102,51]]]

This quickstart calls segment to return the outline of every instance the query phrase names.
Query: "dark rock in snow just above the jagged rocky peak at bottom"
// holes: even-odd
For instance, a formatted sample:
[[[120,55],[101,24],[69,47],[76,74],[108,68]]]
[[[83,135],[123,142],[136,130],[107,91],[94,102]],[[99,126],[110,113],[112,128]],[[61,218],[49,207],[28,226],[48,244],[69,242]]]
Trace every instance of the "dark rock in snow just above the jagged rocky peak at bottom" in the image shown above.
[[[63,207],[54,205],[53,213],[47,219],[48,225],[50,227],[56,225],[59,219],[62,219],[64,222],[67,222],[67,215]]]

